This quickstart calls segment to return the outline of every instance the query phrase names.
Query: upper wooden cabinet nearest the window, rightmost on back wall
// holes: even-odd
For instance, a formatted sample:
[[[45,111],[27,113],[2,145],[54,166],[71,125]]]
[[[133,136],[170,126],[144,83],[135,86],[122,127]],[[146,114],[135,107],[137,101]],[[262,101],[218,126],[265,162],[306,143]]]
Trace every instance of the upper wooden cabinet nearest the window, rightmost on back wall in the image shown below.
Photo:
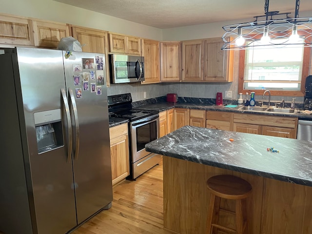
[[[221,50],[220,38],[206,39],[204,44],[204,81],[232,82],[234,52]]]

